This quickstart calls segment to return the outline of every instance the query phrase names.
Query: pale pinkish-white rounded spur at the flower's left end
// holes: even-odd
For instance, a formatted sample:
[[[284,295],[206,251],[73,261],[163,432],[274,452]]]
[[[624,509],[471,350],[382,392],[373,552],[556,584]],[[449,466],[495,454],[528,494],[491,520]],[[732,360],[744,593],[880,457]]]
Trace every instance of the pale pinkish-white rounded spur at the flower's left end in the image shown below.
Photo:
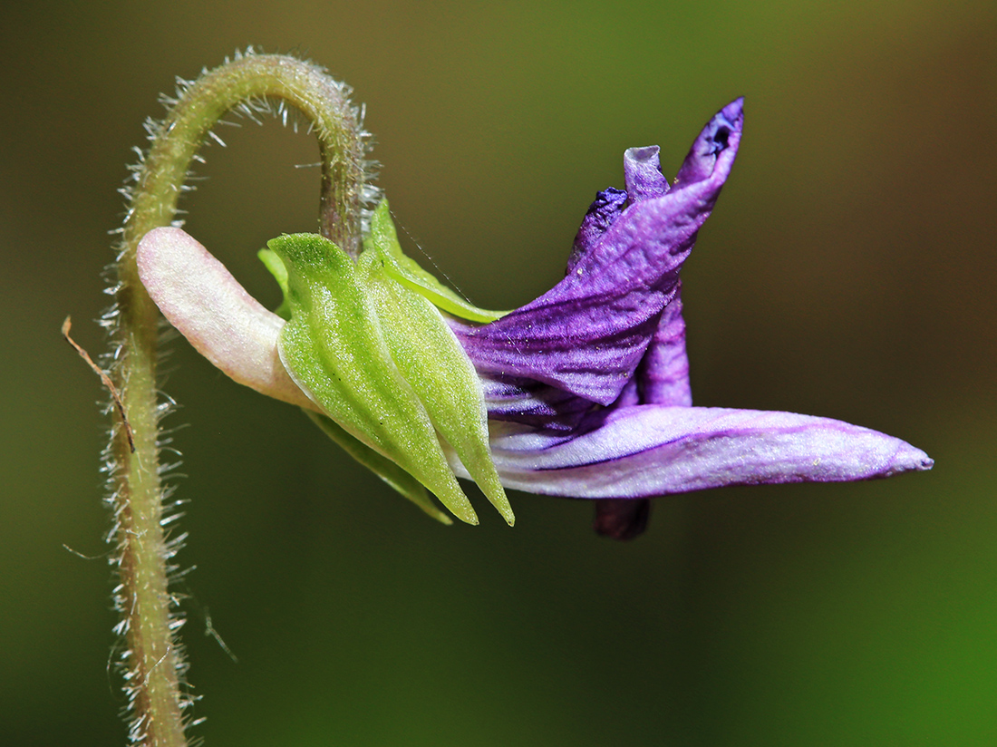
[[[139,242],[139,277],[166,319],[239,384],[317,410],[280,362],[284,320],[265,309],[189,234],[156,228]]]

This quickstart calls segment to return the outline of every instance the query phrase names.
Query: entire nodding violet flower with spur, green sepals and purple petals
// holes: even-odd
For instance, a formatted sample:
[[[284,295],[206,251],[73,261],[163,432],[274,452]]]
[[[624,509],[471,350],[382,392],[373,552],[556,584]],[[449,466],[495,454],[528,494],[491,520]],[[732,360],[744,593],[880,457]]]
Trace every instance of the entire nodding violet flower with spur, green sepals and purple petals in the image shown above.
[[[728,485],[837,482],[930,469],[898,439],[836,420],[692,407],[679,271],[737,156],[742,101],[672,184],[657,147],[624,154],[564,278],[509,312],[468,303],[402,253],[387,202],[354,262],[314,234],[269,242],[284,291],[255,301],[179,228],[139,246],[166,318],[239,383],[298,405],[433,516],[477,517],[455,475],[512,524],[503,488],[594,499],[595,528],[643,531],[648,499]]]

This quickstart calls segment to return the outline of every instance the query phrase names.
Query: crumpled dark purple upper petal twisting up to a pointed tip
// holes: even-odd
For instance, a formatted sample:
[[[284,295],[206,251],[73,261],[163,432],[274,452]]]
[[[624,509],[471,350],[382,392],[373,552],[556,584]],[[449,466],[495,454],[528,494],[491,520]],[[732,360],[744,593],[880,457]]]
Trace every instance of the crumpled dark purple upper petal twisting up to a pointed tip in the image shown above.
[[[455,322],[479,372],[535,379],[602,405],[616,400],[675,295],[682,262],[734,163],[742,121],[738,102],[726,107],[697,139],[683,188],[627,206],[542,296],[491,324]],[[647,177],[633,169],[636,182]]]

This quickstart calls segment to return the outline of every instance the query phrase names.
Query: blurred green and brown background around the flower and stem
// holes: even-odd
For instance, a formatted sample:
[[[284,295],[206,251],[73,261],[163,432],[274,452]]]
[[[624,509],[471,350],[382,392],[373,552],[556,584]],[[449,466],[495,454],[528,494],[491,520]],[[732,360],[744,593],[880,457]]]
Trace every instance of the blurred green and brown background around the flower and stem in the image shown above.
[[[997,744],[997,10],[980,2],[4,3],[0,744],[123,744],[98,352],[115,191],[173,76],[246,45],[368,105],[380,184],[472,299],[562,272],[622,152],[746,135],[686,265],[700,405],[904,438],[933,472],[656,502],[646,536],[512,494],[424,518],[173,345],[195,730],[209,745]],[[316,161],[222,128],[188,229],[252,292]],[[477,495],[477,494],[476,494]],[[206,620],[238,657],[205,636]]]

